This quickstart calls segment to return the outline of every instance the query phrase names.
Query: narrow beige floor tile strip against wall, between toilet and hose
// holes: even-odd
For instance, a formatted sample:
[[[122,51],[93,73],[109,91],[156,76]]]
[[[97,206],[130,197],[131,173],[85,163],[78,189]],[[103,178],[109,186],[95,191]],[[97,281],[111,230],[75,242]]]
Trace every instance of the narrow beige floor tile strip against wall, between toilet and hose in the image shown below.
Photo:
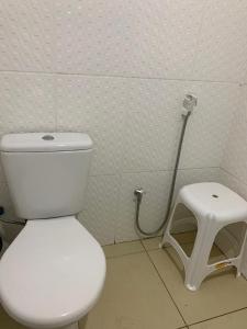
[[[145,251],[143,245],[138,240],[104,246],[103,250],[106,258]]]

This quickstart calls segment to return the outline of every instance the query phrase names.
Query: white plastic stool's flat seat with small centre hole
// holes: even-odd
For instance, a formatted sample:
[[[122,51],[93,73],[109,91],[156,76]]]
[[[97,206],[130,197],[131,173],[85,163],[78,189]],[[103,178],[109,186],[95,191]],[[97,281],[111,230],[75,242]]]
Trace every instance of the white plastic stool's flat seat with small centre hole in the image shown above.
[[[220,183],[197,183],[180,190],[186,205],[205,218],[231,222],[247,218],[247,202],[237,193]]]

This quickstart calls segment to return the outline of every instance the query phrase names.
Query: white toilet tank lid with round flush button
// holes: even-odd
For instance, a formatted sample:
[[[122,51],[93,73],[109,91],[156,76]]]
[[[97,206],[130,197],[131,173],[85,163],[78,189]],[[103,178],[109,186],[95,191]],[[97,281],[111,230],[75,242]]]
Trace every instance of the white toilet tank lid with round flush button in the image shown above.
[[[82,133],[8,134],[0,141],[0,150],[5,152],[53,152],[91,148],[90,136]]]

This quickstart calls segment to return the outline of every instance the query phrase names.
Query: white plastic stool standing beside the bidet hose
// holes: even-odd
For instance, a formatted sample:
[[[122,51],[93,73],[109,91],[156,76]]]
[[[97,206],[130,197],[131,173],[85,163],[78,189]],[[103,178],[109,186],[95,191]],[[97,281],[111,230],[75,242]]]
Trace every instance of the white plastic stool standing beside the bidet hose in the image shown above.
[[[170,234],[173,215],[179,204],[186,205],[198,222],[198,234],[190,258]],[[197,291],[210,273],[224,266],[236,266],[237,276],[240,275],[246,234],[237,257],[209,264],[210,252],[217,232],[224,226],[238,222],[247,224],[247,202],[228,188],[218,183],[198,183],[183,186],[179,191],[160,247],[168,242],[176,249],[184,266],[184,285],[190,291]]]

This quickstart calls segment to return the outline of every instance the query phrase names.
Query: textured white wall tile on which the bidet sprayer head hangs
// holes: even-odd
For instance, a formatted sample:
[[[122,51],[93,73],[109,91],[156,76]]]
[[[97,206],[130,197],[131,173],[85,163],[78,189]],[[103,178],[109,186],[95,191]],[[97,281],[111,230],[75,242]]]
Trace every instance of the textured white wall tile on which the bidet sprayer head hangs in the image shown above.
[[[125,172],[173,167],[187,92],[198,97],[198,106],[189,120],[180,167],[220,166],[238,109],[237,84],[134,79],[130,86],[123,146]]]

